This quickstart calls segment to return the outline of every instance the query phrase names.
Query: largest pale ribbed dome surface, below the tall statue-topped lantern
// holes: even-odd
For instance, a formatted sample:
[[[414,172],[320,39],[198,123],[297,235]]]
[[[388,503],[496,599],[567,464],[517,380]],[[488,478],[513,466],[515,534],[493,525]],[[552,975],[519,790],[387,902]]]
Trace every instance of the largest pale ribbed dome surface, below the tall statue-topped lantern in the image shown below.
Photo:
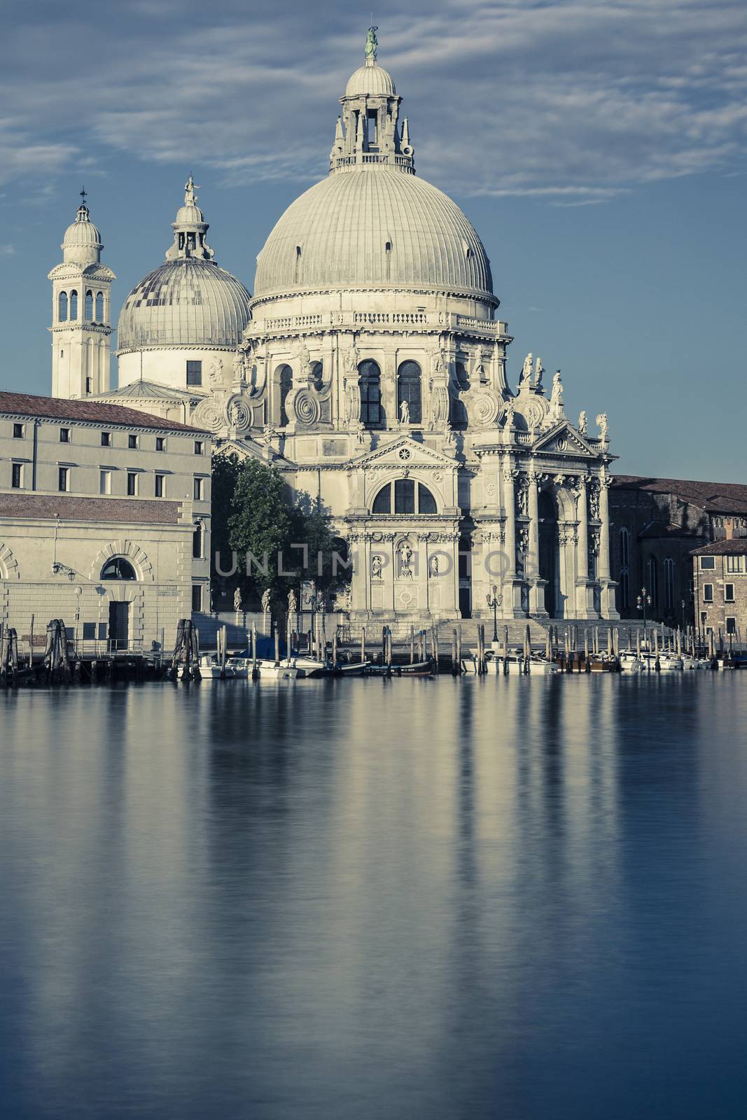
[[[456,203],[382,166],[317,183],[288,207],[258,258],[255,298],[349,287],[493,295],[485,249]]]

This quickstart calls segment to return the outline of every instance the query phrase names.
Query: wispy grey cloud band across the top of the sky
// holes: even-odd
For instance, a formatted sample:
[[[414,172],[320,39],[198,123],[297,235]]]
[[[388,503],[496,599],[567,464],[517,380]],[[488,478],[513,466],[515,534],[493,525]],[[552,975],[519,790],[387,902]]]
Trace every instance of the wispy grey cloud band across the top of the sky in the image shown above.
[[[745,164],[741,0],[379,7],[380,62],[405,95],[418,167],[447,188],[588,206]],[[342,0],[324,21],[300,0],[44,10],[46,24],[38,6],[18,4],[6,24],[6,181],[82,160],[95,170],[112,149],[212,164],[230,184],[325,172],[364,30]]]

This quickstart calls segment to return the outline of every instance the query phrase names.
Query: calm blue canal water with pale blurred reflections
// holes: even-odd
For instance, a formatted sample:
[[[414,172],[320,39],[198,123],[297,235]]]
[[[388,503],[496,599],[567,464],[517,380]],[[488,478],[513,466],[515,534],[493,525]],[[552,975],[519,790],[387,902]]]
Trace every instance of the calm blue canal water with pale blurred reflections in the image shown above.
[[[0,694],[0,1113],[743,1114],[747,674]]]

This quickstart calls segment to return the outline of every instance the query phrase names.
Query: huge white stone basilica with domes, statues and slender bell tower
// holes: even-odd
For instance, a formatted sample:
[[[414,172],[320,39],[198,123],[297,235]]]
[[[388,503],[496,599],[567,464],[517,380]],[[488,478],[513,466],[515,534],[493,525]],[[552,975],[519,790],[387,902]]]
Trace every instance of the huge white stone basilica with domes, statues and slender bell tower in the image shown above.
[[[250,295],[192,179],[165,261],[124,299],[85,204],[54,269],[53,393],[193,424],[280,470],[353,560],[353,626],[618,617],[607,418],[569,422],[560,372],[508,372],[486,250],[415,174],[375,28],[339,99],[329,172],[288,207]]]

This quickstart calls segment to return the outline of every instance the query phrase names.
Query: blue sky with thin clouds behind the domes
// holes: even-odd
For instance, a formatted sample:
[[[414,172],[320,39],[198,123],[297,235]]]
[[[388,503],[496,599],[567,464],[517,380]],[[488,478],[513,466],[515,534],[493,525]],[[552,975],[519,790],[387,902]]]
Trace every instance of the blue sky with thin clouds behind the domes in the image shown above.
[[[0,388],[50,391],[47,272],[85,185],[119,308],[193,172],[215,259],[327,172],[371,0],[4,0]],[[744,0],[379,2],[418,174],[491,258],[499,317],[609,417],[615,469],[745,482]],[[591,424],[594,431],[594,424]]]

